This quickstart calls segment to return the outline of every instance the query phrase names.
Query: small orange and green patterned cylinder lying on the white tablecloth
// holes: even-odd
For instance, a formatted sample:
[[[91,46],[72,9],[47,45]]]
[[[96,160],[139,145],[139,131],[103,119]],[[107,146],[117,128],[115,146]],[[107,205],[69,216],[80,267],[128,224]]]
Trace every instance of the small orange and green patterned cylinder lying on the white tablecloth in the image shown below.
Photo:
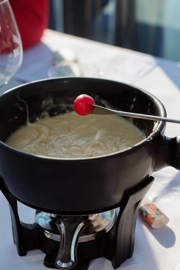
[[[169,219],[161,210],[147,198],[144,198],[139,208],[139,217],[148,222],[153,229],[165,226]]]

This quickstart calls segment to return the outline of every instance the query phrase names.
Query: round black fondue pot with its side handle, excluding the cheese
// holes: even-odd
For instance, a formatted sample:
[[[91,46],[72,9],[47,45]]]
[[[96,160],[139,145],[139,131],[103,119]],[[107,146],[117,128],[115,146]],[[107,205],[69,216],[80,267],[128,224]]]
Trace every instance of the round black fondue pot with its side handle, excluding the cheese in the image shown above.
[[[164,135],[165,122],[153,131],[151,120],[134,119],[147,138],[131,148],[92,158],[50,158],[24,153],[4,141],[44,110],[51,115],[72,110],[79,94],[89,94],[95,103],[108,101],[115,109],[166,116],[155,96],[137,87],[103,79],[45,79],[15,87],[0,96],[0,176],[13,197],[48,213],[83,215],[116,208],[125,191],[166,166],[180,169],[180,137]],[[66,106],[64,106],[66,105]],[[84,116],[85,117],[85,116]]]

